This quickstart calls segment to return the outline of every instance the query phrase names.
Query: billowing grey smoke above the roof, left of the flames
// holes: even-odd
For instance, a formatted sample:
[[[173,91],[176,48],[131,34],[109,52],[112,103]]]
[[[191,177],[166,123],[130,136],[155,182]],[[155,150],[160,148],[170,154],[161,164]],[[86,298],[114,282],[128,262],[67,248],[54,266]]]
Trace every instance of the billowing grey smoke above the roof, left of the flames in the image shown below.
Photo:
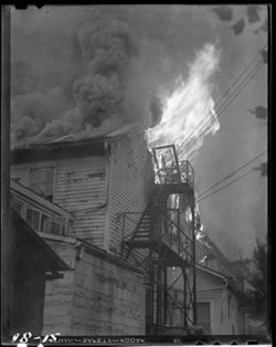
[[[164,91],[189,76],[191,42],[200,49],[212,31],[197,7],[24,12],[12,13],[12,146],[129,122],[156,126]]]

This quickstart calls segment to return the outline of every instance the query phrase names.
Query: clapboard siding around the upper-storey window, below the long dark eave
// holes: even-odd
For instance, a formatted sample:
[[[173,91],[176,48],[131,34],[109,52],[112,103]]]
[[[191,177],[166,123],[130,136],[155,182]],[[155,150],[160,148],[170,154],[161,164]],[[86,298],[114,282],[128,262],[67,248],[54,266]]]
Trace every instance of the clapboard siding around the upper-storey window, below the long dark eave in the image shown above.
[[[106,159],[81,157],[28,162],[11,167],[11,178],[28,187],[30,169],[54,167],[53,202],[73,213],[72,234],[103,246],[105,229]]]

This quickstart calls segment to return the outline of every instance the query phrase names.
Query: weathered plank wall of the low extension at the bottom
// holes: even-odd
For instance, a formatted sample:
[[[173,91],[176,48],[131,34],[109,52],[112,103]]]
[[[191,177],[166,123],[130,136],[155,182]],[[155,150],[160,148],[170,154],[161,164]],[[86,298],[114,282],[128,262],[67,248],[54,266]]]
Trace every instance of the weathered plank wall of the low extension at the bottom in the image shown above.
[[[74,243],[47,243],[73,270],[47,283],[43,334],[145,334],[145,287],[139,272],[106,253],[87,252],[87,246],[77,257],[79,249]]]

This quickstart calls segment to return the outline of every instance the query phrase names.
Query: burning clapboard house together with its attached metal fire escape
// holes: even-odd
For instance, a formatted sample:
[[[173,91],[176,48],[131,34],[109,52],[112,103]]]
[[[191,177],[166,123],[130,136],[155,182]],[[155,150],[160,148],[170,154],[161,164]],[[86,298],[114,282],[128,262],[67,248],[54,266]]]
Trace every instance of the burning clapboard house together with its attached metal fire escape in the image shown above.
[[[174,146],[151,160],[136,130],[12,151],[12,207],[68,266],[46,283],[43,334],[200,333],[197,314],[211,333],[202,281],[227,275],[197,264],[193,169]]]

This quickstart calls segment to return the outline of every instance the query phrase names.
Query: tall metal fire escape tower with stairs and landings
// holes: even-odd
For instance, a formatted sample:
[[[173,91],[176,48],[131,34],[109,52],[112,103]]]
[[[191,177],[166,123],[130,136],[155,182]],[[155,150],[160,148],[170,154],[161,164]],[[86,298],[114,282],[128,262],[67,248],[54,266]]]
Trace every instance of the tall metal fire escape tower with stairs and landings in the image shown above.
[[[174,145],[153,148],[152,157],[156,183],[145,211],[123,213],[121,256],[131,257],[146,273],[146,333],[190,334],[197,324],[193,168],[188,160],[179,161]],[[188,201],[190,232],[180,222],[182,202],[169,206],[171,196]],[[176,269],[178,277],[170,278]],[[177,282],[181,301],[173,295]],[[181,312],[178,326],[169,319],[171,307]]]

